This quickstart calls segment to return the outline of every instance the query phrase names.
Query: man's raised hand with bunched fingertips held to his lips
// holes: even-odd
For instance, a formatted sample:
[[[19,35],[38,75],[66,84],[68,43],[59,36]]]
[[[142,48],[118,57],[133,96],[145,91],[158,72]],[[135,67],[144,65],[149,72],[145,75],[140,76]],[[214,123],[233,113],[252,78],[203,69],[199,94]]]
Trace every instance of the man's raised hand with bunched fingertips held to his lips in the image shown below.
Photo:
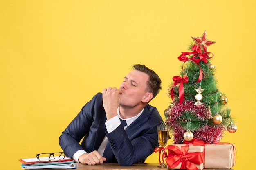
[[[122,93],[121,90],[116,87],[108,87],[108,89],[103,89],[102,99],[103,107],[106,112],[107,120],[117,116],[117,108],[120,103],[119,95]]]

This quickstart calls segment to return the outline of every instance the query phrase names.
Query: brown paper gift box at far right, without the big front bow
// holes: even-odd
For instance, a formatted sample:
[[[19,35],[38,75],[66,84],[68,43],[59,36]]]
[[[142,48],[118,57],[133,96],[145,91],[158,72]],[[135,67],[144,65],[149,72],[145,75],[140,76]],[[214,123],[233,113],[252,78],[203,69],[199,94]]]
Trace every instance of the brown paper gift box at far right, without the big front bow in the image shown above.
[[[230,169],[235,163],[234,144],[207,144],[204,146],[204,168]]]

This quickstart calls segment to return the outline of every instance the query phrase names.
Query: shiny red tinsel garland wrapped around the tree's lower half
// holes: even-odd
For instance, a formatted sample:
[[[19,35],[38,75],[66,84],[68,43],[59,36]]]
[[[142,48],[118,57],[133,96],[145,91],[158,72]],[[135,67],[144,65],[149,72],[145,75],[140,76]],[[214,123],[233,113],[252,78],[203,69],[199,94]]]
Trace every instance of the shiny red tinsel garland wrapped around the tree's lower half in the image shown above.
[[[169,125],[171,133],[173,134],[173,142],[178,143],[184,140],[183,135],[188,129],[181,126],[181,117],[185,111],[193,111],[196,114],[201,124],[198,129],[189,129],[196,139],[200,139],[207,143],[219,142],[222,139],[222,134],[226,130],[225,126],[216,124],[209,124],[207,120],[207,107],[202,105],[194,105],[195,101],[184,100],[182,104],[174,102],[171,105],[169,116],[166,118],[166,124]]]

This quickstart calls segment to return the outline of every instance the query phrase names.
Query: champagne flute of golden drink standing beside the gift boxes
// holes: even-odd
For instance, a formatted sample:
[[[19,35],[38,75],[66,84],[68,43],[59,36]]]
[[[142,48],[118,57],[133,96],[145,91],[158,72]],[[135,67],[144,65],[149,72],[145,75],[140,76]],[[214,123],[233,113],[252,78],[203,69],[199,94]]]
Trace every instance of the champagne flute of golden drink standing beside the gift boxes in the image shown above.
[[[158,125],[157,126],[157,133],[158,133],[158,144],[160,147],[162,147],[161,153],[162,153],[162,163],[158,167],[166,168],[167,165],[164,164],[164,147],[166,146],[168,142],[168,126],[167,125]],[[160,157],[159,157],[160,159]]]

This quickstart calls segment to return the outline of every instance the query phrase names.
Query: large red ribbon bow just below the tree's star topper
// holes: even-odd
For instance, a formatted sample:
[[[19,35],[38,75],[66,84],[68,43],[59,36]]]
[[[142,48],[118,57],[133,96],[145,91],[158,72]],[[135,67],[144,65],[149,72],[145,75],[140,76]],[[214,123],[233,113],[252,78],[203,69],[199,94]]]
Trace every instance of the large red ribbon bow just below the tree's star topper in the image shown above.
[[[180,61],[184,61],[184,63],[186,61],[193,61],[196,65],[199,66],[200,74],[199,74],[198,80],[196,81],[196,83],[198,83],[203,78],[203,73],[202,73],[202,69],[201,69],[201,67],[199,65],[199,61],[202,60],[202,61],[204,61],[204,63],[207,63],[207,58],[208,59],[212,58],[213,54],[211,52],[204,52],[204,53],[202,53],[202,51],[199,50],[199,47],[197,45],[195,45],[195,44],[192,46],[191,49],[194,50],[194,51],[193,52],[181,52],[182,54],[178,57],[178,59]],[[191,54],[193,54],[194,56],[191,57],[191,58],[186,57],[186,55],[191,55]],[[210,57],[208,54],[212,54],[212,57]],[[199,58],[195,58],[195,57],[199,57]],[[183,70],[183,65],[182,65],[182,70]]]

